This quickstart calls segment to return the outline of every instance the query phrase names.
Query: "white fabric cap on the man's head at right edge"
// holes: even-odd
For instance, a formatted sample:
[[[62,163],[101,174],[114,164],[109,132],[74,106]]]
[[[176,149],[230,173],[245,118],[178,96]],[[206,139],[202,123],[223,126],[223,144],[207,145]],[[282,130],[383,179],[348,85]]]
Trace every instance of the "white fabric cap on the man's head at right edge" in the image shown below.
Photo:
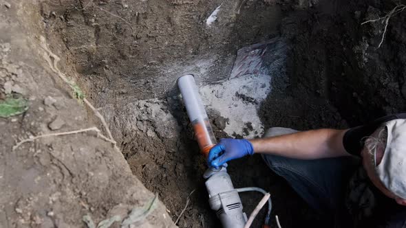
[[[394,119],[384,126],[387,127],[387,144],[375,170],[387,190],[406,199],[406,119]]]

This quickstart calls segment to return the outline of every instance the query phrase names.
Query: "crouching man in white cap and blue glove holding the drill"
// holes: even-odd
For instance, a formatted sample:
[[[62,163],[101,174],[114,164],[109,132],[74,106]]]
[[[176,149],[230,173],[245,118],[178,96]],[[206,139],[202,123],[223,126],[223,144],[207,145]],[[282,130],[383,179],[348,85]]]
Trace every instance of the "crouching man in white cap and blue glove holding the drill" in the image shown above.
[[[406,113],[347,130],[270,128],[261,139],[221,139],[208,162],[254,153],[336,225],[350,216],[353,227],[406,228]]]

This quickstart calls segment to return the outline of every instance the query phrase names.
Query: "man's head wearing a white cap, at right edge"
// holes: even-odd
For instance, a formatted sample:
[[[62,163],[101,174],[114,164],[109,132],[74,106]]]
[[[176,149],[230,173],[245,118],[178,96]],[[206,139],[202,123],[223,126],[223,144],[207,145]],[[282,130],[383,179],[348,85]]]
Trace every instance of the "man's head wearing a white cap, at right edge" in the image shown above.
[[[406,206],[406,119],[385,122],[365,139],[363,167],[386,196]]]

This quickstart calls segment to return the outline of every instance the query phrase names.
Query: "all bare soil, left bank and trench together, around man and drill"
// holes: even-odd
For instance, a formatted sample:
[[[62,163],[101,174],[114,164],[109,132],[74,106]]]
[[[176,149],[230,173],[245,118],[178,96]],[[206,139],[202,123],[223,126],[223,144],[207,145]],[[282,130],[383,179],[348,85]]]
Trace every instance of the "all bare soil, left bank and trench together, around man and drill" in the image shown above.
[[[389,12],[394,3],[387,1],[0,4],[5,31],[0,35],[0,84],[12,81],[8,90],[30,99],[27,113],[0,119],[6,129],[0,133],[5,227],[79,227],[85,214],[100,221],[117,209],[145,205],[151,192],[166,208],[159,204],[145,227],[173,227],[171,219],[178,218],[193,190],[177,225],[220,227],[202,178],[206,161],[193,139],[175,80],[193,73],[202,94],[233,91],[224,85],[232,80],[237,50],[248,45],[284,42],[286,56],[269,60],[280,64],[270,73],[267,95],[257,99],[237,89],[224,98],[257,109],[254,115],[261,126],[246,121],[240,130],[230,128],[233,111],[241,109],[226,116],[215,105],[215,96],[208,100],[217,139],[260,137],[270,126],[345,128],[405,110],[405,16],[391,19],[378,49],[384,25],[361,25]],[[216,8],[217,19],[208,25]],[[43,42],[61,57],[61,71],[76,80],[103,114],[122,154],[89,134],[41,139],[10,150],[17,137],[100,124],[51,70]],[[0,98],[6,96],[3,88]],[[273,215],[282,227],[332,226],[270,172],[261,157],[231,161],[228,172],[235,187],[262,187],[271,193]],[[244,212],[250,214],[261,196],[241,196]],[[263,218],[260,214],[253,227],[260,227]]]

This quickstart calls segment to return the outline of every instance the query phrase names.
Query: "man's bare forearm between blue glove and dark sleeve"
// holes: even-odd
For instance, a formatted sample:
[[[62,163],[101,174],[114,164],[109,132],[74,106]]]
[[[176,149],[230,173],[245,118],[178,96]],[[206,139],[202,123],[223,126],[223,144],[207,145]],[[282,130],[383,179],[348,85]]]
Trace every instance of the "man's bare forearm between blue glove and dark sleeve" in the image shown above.
[[[321,159],[349,155],[343,146],[347,130],[318,129],[289,135],[250,139],[254,152],[295,159]]]

